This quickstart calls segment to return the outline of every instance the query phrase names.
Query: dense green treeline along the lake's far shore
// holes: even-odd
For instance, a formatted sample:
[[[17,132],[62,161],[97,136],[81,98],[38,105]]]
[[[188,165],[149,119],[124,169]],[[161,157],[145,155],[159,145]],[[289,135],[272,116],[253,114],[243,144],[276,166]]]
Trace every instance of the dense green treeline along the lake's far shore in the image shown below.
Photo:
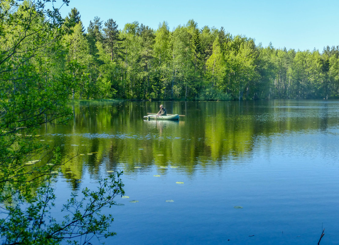
[[[125,99],[265,99],[338,96],[339,48],[319,53],[256,45],[194,20],[169,30],[95,17],[87,32],[73,8],[64,37],[68,59],[87,74],[74,98]],[[65,44],[66,45],[66,44]]]

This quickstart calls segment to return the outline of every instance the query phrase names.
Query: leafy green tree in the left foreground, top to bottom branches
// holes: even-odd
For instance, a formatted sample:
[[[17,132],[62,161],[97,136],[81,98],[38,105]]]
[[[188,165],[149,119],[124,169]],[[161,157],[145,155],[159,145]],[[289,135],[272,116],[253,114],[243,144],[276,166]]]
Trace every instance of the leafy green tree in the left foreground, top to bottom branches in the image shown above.
[[[64,239],[78,244],[78,237],[85,244],[94,234],[114,235],[108,231],[113,218],[100,209],[124,193],[121,173],[101,180],[96,191],[84,189],[80,199],[73,194],[63,207],[63,220],[55,220],[51,183],[62,162],[58,149],[49,149],[36,134],[47,123],[64,124],[72,114],[69,99],[75,91],[89,90],[86,69],[93,61],[81,26],[75,24],[69,34],[58,10],[46,11],[44,2],[1,2],[2,244],[59,244]]]

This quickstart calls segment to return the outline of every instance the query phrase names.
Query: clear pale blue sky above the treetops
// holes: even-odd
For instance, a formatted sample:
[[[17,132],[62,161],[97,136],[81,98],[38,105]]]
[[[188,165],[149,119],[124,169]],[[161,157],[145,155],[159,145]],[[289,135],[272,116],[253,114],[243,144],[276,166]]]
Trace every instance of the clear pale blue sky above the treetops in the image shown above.
[[[171,31],[194,19],[199,28],[223,26],[264,47],[272,42],[275,48],[321,53],[324,46],[339,45],[339,0],[71,0],[60,10],[63,17],[73,7],[86,29],[95,16],[104,22],[112,18],[119,29],[138,21],[156,30],[166,21]]]

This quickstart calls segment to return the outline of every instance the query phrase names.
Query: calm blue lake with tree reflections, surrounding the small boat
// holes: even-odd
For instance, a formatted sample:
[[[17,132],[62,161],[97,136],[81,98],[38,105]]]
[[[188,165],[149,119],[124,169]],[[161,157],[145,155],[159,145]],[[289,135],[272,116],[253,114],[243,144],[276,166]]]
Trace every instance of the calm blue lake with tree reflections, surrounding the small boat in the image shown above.
[[[143,120],[160,103],[184,116]],[[317,244],[323,228],[320,244],[339,244],[338,100],[81,101],[72,109],[68,125],[41,130],[65,159],[84,154],[62,166],[56,205],[123,170],[129,198],[103,210],[117,232],[106,244]]]

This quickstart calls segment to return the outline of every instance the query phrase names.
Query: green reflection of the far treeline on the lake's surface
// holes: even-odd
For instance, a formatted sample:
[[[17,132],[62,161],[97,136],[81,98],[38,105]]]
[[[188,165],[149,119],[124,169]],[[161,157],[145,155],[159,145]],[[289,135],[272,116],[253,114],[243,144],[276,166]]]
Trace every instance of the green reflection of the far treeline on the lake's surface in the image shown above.
[[[133,175],[171,165],[190,175],[197,166],[241,163],[253,154],[259,138],[330,131],[339,118],[338,101],[272,100],[163,102],[168,114],[186,116],[179,121],[143,120],[158,104],[81,101],[72,105],[74,117],[68,125],[47,125],[41,134],[61,147],[64,159],[78,155],[62,167],[63,173],[72,172],[65,178],[77,188],[84,169],[97,178],[100,169]]]

